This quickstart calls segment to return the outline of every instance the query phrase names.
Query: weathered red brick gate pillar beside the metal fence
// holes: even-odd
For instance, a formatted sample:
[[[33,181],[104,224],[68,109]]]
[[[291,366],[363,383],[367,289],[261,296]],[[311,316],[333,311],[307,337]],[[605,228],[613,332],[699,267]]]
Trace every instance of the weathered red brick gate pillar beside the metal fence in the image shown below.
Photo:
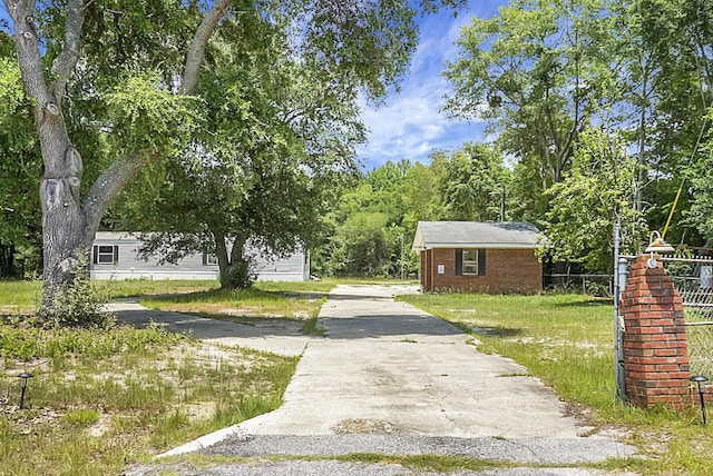
[[[636,258],[622,295],[626,398],[642,408],[680,408],[691,403],[683,299],[663,265],[648,268],[648,258]]]

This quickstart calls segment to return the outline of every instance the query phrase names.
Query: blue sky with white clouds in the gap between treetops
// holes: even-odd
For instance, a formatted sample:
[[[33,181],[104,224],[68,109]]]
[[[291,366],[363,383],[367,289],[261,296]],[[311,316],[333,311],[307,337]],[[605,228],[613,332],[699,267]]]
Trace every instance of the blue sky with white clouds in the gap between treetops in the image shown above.
[[[362,119],[369,128],[368,141],[358,150],[363,170],[387,161],[408,159],[428,163],[436,150],[453,150],[465,142],[482,141],[485,125],[448,119],[440,112],[449,90],[442,77],[446,61],[455,60],[460,29],[472,17],[490,18],[505,0],[469,0],[453,18],[451,11],[439,12],[420,21],[420,42],[411,71],[381,107],[363,105]]]

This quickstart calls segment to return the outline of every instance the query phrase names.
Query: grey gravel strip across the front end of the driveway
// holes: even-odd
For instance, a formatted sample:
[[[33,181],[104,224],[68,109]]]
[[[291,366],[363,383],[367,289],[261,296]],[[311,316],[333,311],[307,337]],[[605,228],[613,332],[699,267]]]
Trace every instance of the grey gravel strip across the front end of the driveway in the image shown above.
[[[604,445],[604,446],[603,446]],[[482,476],[600,476],[608,473],[577,467],[507,468],[482,472],[458,470],[434,473],[417,470],[398,464],[344,463],[330,456],[355,453],[393,455],[448,455],[475,459],[509,462],[522,465],[572,465],[603,460],[596,455],[604,449],[611,456],[616,448],[605,438],[518,439],[417,437],[397,435],[321,435],[321,436],[234,436],[199,452],[202,455],[235,457],[237,463],[216,463],[215,466],[194,466],[188,463],[160,462],[133,466],[126,476],[263,476],[263,475],[343,475],[343,476],[406,476],[406,475],[482,475]],[[614,444],[615,445],[615,444]],[[621,456],[629,456],[622,447]],[[305,456],[309,455],[309,456]],[[268,459],[272,458],[272,459]],[[295,458],[295,459],[283,459]],[[304,459],[300,459],[304,458]],[[216,458],[217,459],[217,458]],[[618,475],[627,475],[617,473]]]

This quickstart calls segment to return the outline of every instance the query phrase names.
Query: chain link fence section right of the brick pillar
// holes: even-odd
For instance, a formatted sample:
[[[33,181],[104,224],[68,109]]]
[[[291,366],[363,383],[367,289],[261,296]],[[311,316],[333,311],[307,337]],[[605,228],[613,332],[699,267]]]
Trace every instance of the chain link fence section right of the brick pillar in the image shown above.
[[[713,378],[713,259],[662,260],[683,298],[691,375]]]

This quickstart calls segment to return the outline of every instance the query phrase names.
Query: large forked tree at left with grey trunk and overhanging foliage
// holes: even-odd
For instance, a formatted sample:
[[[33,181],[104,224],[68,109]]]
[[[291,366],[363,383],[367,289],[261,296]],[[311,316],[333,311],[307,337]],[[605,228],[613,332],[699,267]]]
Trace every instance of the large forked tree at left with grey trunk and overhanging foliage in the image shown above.
[[[247,40],[253,32],[241,16],[256,11],[291,34],[294,53],[312,70],[361,87],[372,98],[406,71],[417,36],[416,10],[402,0],[218,0],[207,7],[148,0],[118,8],[110,1],[68,0],[41,9],[35,0],[3,3],[42,152],[43,309],[71,285],[79,258],[124,186],[152,159],[185,147],[193,112],[185,96],[201,95],[202,67],[216,30],[234,28]],[[428,12],[459,3],[419,4]],[[224,26],[225,19],[235,21]],[[106,148],[94,147],[97,139]],[[101,167],[87,186],[89,158]]]

